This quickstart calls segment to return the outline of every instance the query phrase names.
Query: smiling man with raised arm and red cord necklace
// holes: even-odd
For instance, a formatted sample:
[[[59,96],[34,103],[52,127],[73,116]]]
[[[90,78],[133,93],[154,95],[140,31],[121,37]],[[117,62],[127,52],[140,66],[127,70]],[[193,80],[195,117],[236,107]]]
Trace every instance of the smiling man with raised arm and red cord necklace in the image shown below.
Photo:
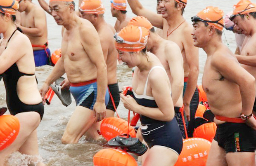
[[[159,5],[162,12],[161,15],[145,9],[139,0],[128,0],[128,3],[134,14],[138,16],[145,16],[153,26],[163,29],[164,39],[171,40],[180,47],[184,61],[183,67],[185,76],[183,90],[184,112],[188,120],[193,120],[199,103],[199,95],[197,90],[199,56],[198,48],[194,47],[192,37],[190,37],[192,26],[185,21],[182,15],[187,0],[162,1]],[[184,138],[185,131],[181,113],[179,112],[180,109],[176,108],[175,110],[175,117],[177,118]],[[193,130],[193,127],[189,127],[188,135],[190,137],[193,136]]]

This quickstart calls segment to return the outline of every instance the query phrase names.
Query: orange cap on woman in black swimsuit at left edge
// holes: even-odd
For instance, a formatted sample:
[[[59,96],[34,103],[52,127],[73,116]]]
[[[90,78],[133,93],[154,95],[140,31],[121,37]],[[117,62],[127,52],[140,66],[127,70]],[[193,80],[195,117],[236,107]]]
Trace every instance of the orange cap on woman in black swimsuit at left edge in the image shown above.
[[[16,15],[19,9],[19,2],[16,0],[0,0],[0,13],[9,13]]]

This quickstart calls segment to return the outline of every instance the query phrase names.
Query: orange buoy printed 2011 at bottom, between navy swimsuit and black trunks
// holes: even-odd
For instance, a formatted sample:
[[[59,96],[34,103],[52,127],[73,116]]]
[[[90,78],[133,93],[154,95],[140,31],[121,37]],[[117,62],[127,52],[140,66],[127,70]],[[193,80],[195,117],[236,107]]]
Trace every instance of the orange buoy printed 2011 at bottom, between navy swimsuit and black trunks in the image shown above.
[[[205,166],[211,142],[204,138],[187,138],[174,166]]]

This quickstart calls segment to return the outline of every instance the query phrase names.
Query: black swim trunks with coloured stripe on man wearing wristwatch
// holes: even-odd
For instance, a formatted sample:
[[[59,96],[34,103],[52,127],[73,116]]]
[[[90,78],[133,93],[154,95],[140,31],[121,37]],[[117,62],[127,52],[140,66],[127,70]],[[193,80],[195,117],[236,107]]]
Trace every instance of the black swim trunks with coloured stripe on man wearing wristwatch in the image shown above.
[[[228,152],[255,152],[256,131],[245,123],[225,122],[217,125],[214,140]]]

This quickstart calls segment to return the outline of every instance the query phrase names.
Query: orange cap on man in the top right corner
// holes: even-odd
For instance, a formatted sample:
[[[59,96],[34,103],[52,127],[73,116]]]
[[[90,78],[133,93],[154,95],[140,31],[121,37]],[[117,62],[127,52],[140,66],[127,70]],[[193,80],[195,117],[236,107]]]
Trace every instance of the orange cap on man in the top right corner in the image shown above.
[[[237,5],[233,6],[233,13],[230,16],[230,20],[233,20],[236,16],[245,13],[256,12],[256,7],[249,0],[240,0]]]

